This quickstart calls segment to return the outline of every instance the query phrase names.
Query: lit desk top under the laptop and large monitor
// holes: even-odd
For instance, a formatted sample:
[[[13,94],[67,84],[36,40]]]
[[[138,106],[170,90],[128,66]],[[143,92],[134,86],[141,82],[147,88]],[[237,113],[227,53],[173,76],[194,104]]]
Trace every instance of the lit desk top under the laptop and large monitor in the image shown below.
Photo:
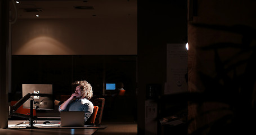
[[[8,120],[8,128],[0,129],[0,134],[8,135],[50,135],[50,134],[58,134],[58,135],[66,135],[66,134],[93,134],[98,129],[105,129],[107,126],[87,126],[84,127],[60,127],[58,123],[59,120],[49,120],[51,124],[43,124],[45,120],[38,120],[37,124],[34,125],[35,128],[26,128],[28,123],[23,123],[20,125],[16,125],[18,123],[25,122],[25,120]],[[15,126],[16,125],[16,126]]]

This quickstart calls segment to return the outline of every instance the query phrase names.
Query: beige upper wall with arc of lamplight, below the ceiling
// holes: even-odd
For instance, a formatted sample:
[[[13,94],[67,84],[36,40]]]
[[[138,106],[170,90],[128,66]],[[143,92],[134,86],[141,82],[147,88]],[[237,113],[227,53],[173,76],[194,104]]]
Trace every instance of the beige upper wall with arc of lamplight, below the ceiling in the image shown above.
[[[12,55],[137,55],[137,16],[123,19],[19,19]]]

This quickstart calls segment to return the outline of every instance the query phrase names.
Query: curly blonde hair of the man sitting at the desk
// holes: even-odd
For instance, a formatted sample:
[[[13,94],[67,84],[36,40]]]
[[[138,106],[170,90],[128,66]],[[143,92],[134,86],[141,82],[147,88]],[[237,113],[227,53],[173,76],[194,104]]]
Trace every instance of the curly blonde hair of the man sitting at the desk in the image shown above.
[[[83,98],[87,98],[87,100],[92,98],[92,86],[86,80],[80,80],[72,83],[73,86],[77,87],[80,86],[82,89]]]

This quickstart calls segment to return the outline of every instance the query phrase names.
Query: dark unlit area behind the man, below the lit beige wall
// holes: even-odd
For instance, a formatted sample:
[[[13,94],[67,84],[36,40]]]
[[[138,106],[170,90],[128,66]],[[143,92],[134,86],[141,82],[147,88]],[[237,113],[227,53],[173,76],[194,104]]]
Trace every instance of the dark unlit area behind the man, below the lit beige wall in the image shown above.
[[[133,55],[15,55],[12,56],[13,91],[8,93],[9,102],[23,97],[22,84],[52,84],[53,99],[61,101],[62,95],[74,93],[70,82],[87,80],[93,88],[92,99],[106,99],[103,120],[126,119],[136,122],[136,60]],[[103,93],[104,82],[115,83],[116,87],[122,82],[125,95],[118,96],[115,90]]]

